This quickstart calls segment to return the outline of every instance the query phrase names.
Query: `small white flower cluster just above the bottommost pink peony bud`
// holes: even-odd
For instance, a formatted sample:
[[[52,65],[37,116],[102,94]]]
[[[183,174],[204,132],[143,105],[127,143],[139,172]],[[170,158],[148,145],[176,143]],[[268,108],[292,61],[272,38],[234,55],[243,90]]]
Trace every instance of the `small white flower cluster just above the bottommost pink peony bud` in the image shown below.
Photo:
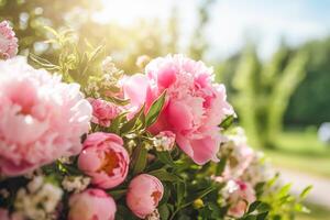
[[[90,184],[90,178],[85,176],[65,176],[62,186],[67,191],[80,193]]]

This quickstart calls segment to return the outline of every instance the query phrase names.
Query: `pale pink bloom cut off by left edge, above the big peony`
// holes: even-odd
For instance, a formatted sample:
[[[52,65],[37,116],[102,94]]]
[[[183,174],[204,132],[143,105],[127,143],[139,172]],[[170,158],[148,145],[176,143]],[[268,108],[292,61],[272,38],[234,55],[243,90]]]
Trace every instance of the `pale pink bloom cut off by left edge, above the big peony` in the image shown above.
[[[0,58],[8,59],[15,56],[18,47],[18,38],[9,22],[0,22]]]

